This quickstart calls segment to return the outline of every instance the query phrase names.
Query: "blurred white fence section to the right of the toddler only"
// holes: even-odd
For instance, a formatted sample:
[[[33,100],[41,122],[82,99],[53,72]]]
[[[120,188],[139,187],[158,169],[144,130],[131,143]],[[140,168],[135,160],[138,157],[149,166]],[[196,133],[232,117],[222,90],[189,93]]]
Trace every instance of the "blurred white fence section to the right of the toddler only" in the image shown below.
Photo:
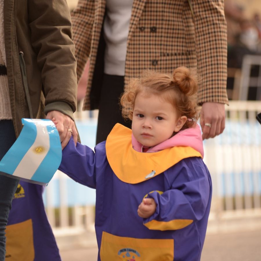
[[[214,231],[261,227],[261,125],[255,119],[260,112],[259,101],[231,101],[224,133],[204,141]]]

